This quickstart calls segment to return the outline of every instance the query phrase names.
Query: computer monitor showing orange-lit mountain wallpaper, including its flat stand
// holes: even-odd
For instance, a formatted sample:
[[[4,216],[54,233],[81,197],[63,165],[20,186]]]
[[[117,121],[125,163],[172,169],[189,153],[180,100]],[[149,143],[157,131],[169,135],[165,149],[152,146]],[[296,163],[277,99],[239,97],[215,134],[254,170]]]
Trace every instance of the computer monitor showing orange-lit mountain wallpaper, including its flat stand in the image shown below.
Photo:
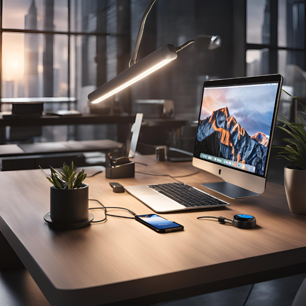
[[[282,80],[274,74],[204,83],[192,164],[224,182],[202,186],[235,199],[263,193]]]

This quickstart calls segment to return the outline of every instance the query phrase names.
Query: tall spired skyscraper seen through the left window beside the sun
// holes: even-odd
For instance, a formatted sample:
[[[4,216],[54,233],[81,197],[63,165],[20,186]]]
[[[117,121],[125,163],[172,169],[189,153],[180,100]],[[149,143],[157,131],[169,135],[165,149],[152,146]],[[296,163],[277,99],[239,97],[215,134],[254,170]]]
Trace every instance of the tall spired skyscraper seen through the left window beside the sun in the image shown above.
[[[24,28],[37,29],[37,10],[35,0],[32,0],[28,14],[24,17]],[[38,35],[24,34],[24,96],[38,96]]]

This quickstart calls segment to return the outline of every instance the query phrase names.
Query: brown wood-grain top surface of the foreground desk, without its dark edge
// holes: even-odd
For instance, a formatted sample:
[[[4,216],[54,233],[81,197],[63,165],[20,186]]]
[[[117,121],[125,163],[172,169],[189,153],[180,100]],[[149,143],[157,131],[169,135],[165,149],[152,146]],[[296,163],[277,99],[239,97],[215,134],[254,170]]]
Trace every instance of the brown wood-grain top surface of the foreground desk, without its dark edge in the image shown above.
[[[147,167],[136,164],[136,171],[141,172],[179,176],[196,171],[191,162],[157,162],[155,156],[137,156],[135,160],[148,164]],[[220,181],[202,170],[180,180],[206,192],[201,183]],[[171,178],[138,173],[135,178],[109,180],[103,172],[86,179],[90,199],[100,200],[106,206],[126,207],[139,215],[153,211],[127,192],[114,193],[109,181],[122,185],[173,182]],[[229,200],[218,195],[231,203],[230,207],[162,214],[185,226],[184,231],[165,234],[156,233],[135,220],[114,217],[81,230],[54,231],[43,220],[43,215],[50,211],[50,183],[39,170],[0,172],[0,186],[0,222],[6,223],[57,289],[118,284],[178,271],[196,273],[199,268],[236,261],[234,268],[242,259],[253,258],[255,263],[256,258],[261,258],[258,256],[282,254],[297,248],[305,255],[306,216],[292,214],[284,187],[273,183],[267,183],[265,192],[257,198]],[[99,206],[89,203],[90,207]],[[95,219],[104,216],[102,210],[91,212]],[[120,213],[128,215],[124,211]],[[242,230],[215,220],[196,219],[203,215],[232,218],[241,213],[255,216],[258,226]],[[291,257],[287,258],[293,263],[301,260],[298,256]],[[201,275],[202,280],[216,277]]]

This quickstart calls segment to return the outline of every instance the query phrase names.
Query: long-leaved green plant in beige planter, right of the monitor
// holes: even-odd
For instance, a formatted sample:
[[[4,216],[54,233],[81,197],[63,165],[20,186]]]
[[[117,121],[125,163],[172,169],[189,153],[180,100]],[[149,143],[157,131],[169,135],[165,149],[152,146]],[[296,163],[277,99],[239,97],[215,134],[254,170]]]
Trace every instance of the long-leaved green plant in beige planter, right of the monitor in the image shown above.
[[[283,90],[285,91],[285,90]],[[306,114],[306,106],[302,101],[306,98],[293,97],[288,92],[285,93],[303,106],[304,111],[298,111],[298,123],[290,122],[285,117],[280,120],[284,125],[278,126],[288,134],[288,138],[283,138],[285,145],[274,146],[278,148],[278,158],[285,158],[291,162],[284,168],[284,185],[290,210],[294,214],[306,214],[305,186],[306,186],[306,121],[302,118]]]

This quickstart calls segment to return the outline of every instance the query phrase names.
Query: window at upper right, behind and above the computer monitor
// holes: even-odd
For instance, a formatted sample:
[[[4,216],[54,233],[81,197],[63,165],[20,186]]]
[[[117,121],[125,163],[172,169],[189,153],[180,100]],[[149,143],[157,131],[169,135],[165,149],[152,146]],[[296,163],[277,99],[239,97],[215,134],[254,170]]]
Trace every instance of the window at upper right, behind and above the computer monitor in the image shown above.
[[[292,71],[306,68],[305,0],[247,0],[246,5],[246,75],[280,73],[292,86]]]

